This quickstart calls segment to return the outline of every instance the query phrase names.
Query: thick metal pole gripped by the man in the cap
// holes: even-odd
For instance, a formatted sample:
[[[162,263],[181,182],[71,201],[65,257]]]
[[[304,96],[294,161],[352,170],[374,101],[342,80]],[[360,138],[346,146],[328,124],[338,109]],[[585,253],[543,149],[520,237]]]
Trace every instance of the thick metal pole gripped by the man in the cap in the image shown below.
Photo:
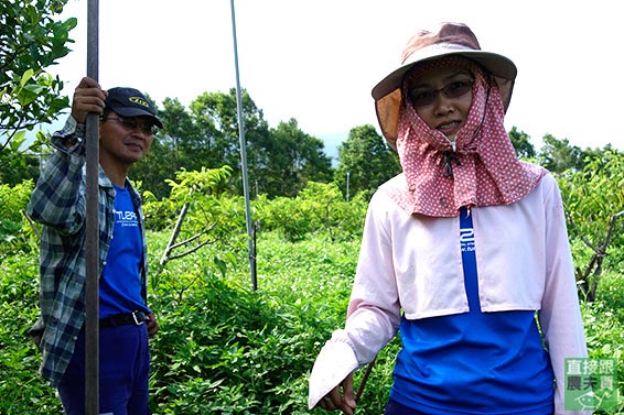
[[[99,4],[88,0],[87,76],[98,79]],[[86,121],[85,414],[99,414],[99,119]]]

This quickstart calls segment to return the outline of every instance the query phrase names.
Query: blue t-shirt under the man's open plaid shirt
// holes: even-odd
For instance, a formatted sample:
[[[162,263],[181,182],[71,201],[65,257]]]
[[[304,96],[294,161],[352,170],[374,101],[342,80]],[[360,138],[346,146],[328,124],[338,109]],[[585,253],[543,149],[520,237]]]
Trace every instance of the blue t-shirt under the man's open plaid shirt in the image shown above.
[[[99,317],[141,309],[143,243],[137,210],[127,188],[115,186],[115,230],[99,281]]]

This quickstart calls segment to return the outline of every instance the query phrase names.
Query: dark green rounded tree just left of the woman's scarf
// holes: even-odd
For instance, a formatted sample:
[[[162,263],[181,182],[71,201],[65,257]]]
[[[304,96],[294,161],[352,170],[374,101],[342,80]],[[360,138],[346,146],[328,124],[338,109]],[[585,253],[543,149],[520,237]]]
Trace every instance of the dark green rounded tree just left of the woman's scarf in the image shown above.
[[[347,195],[372,192],[400,173],[399,159],[370,124],[355,127],[338,148],[334,181]]]

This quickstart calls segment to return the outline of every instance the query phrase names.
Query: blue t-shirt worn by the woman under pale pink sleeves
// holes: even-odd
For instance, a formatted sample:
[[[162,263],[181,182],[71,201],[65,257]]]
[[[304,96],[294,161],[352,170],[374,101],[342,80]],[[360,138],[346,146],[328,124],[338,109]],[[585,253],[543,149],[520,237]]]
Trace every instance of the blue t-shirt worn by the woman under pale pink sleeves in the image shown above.
[[[481,312],[478,247],[465,208],[460,228],[470,312],[401,319],[390,398],[427,414],[551,414],[553,373],[535,312]]]

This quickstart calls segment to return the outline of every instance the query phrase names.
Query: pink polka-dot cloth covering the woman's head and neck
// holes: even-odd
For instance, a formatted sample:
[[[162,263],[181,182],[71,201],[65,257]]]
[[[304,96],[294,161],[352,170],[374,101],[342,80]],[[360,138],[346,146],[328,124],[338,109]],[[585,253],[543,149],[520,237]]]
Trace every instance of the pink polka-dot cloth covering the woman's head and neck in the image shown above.
[[[462,206],[509,205],[532,192],[547,173],[516,157],[505,131],[498,87],[489,87],[472,61],[450,56],[417,65],[406,75],[402,96],[409,81],[424,72],[458,65],[474,74],[475,83],[472,107],[455,143],[430,129],[409,101],[401,105],[397,152],[408,187],[386,186],[386,192],[409,214],[452,217]]]

